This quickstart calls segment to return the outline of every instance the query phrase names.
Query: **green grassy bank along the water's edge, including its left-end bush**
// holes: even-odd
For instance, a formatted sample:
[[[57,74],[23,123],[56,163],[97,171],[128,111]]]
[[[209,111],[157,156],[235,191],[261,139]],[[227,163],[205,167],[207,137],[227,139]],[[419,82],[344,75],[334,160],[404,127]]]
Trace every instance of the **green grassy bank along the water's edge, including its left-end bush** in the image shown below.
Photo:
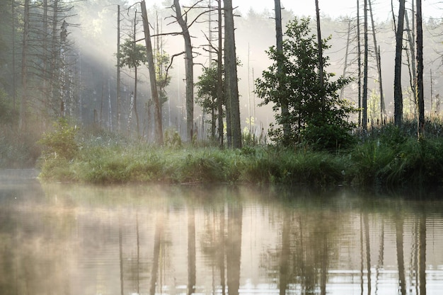
[[[408,130],[408,125],[386,125],[355,134],[358,144],[351,149],[326,152],[308,146],[233,150],[180,142],[159,148],[112,137],[79,139],[64,125],[40,141],[49,147],[40,159],[40,178],[96,184],[442,185],[443,139],[430,133],[418,141]]]

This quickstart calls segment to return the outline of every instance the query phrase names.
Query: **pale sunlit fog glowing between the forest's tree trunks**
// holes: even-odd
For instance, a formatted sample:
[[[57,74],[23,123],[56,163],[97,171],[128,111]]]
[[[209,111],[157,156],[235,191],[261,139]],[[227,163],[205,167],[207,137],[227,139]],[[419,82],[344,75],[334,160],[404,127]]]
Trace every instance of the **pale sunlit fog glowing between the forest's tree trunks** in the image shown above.
[[[171,1],[170,1],[171,2]],[[172,17],[174,11],[172,4],[163,1],[163,6],[148,6],[149,23],[151,24],[151,34],[160,33],[161,37],[153,37],[154,47],[161,47],[169,56],[184,51],[183,37],[179,34],[180,27]],[[81,88],[83,96],[83,105],[81,108],[82,123],[88,124],[93,120],[93,110],[96,110],[98,120],[102,127],[110,128],[109,122],[109,104],[108,96],[111,97],[111,108],[115,108],[115,81],[116,81],[116,57],[117,52],[117,5],[110,3],[101,3],[96,5],[81,4],[84,7],[77,8],[78,28],[69,28],[69,37],[74,40],[79,65],[81,67]],[[204,3],[202,6],[207,6]],[[140,44],[144,44],[142,20],[140,17],[139,4],[133,4],[130,7],[120,7],[120,42],[124,42],[134,30],[134,13],[137,13],[135,28],[136,39]],[[192,21],[203,8],[195,8],[189,12],[189,21]],[[237,11],[235,18],[236,25],[236,51],[240,62],[238,66],[239,92],[242,117],[242,129],[248,127],[248,117],[255,116],[255,130],[267,129],[270,122],[273,121],[272,108],[258,106],[260,99],[254,94],[254,79],[258,79],[262,71],[270,66],[270,60],[267,58],[266,50],[275,44],[275,22],[272,18],[272,11],[254,11],[252,8],[248,13]],[[376,11],[374,11],[376,13]],[[295,17],[294,11],[283,10],[282,18],[286,23]],[[209,18],[212,20],[209,23]],[[195,57],[195,82],[202,73],[202,67],[209,66],[209,60],[216,59],[216,54],[209,56],[209,47],[207,40],[210,38],[217,46],[217,14],[212,12],[205,13],[198,18],[198,21],[192,24],[190,33],[192,35],[192,46],[194,47]],[[315,23],[312,21],[312,34],[316,33]],[[430,98],[433,98],[440,92],[440,61],[439,51],[442,44],[438,41],[439,26],[437,21],[428,20],[425,24],[425,104],[426,112],[430,112]],[[333,72],[336,76],[345,74],[355,78],[355,82],[345,88],[344,98],[352,100],[357,106],[357,40],[356,40],[356,18],[355,16],[332,19],[324,16],[321,20],[322,37],[331,37],[329,41],[330,49],[326,55],[330,57],[330,66],[326,71]],[[381,51],[382,79],[384,86],[384,96],[386,108],[389,117],[393,116],[393,68],[395,54],[395,35],[392,20],[380,21],[376,19],[375,23],[376,38]],[[172,33],[172,35],[166,35]],[[405,34],[406,36],[406,34]],[[348,42],[349,40],[349,42]],[[369,119],[378,117],[379,105],[379,86],[378,75],[376,74],[376,60],[374,57],[374,40],[372,37],[372,28],[369,26]],[[406,46],[406,44],[405,44]],[[345,60],[347,54],[347,69]],[[410,91],[410,76],[408,73],[408,62],[410,57],[403,57],[403,89],[405,112],[413,112],[412,93]],[[432,74],[432,81],[431,81]],[[176,127],[183,134],[185,122],[185,65],[184,54],[176,56],[173,59],[171,69],[168,71],[171,77],[171,83],[166,88],[168,101],[163,105],[162,117],[163,127]],[[140,113],[141,123],[146,125],[147,114],[145,105],[150,99],[149,76],[146,66],[140,66],[139,69],[139,91],[137,98],[137,108]],[[431,94],[432,88],[432,94]],[[129,108],[130,93],[134,90],[134,72],[131,69],[122,69],[122,118],[125,122]],[[435,100],[436,101],[436,100]],[[115,103],[114,103],[115,104]],[[436,108],[436,107],[435,107]],[[434,109],[435,109],[434,108]],[[435,112],[435,110],[434,110]],[[115,110],[112,110],[115,116]],[[195,107],[195,124],[200,129],[202,126],[202,110]],[[209,117],[206,115],[205,120]],[[96,119],[97,120],[97,119]],[[114,119],[115,120],[115,119]],[[115,123],[114,123],[115,124]],[[146,129],[146,126],[144,126]],[[205,126],[207,129],[207,126]],[[201,130],[201,129],[200,129]],[[146,131],[148,132],[149,131]],[[144,133],[146,136],[146,133]],[[202,134],[202,136],[204,136]]]

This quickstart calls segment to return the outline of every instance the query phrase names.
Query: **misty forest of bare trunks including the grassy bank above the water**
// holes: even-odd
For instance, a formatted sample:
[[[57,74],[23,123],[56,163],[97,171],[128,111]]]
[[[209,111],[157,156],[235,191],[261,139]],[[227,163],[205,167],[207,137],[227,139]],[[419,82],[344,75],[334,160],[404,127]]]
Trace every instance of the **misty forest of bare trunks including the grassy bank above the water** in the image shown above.
[[[393,1],[386,20],[371,0],[337,18],[274,2],[0,0],[0,167],[93,183],[439,184],[442,20],[421,0]]]

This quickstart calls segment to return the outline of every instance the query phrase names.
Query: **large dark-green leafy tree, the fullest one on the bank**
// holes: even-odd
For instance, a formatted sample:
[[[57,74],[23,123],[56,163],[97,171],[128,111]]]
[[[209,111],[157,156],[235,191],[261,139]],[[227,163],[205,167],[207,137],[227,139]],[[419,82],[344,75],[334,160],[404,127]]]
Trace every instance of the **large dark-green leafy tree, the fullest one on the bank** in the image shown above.
[[[267,51],[274,62],[255,81],[256,93],[263,99],[260,105],[273,103],[277,123],[269,132],[273,141],[286,146],[304,141],[314,149],[344,147],[352,142],[354,127],[347,117],[356,110],[347,100],[340,100],[339,91],[350,79],[332,81],[335,75],[323,70],[323,86],[318,83],[318,43],[309,23],[309,18],[289,21],[282,51],[275,47]],[[323,51],[329,48],[328,40],[322,42]],[[323,69],[327,66],[328,57],[323,57]],[[278,112],[282,102],[288,105],[287,115]],[[290,127],[289,137],[283,136],[285,125]]]

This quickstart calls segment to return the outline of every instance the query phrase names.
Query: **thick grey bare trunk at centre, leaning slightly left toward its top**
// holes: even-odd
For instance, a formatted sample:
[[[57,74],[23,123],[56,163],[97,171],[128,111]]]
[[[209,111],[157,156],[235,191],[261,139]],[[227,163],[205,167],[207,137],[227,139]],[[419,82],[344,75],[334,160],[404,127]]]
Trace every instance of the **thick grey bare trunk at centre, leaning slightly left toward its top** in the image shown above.
[[[236,40],[234,34],[234,12],[232,0],[224,0],[224,52],[226,56],[225,76],[229,105],[231,106],[232,147],[241,149],[240,102],[238,100]]]

